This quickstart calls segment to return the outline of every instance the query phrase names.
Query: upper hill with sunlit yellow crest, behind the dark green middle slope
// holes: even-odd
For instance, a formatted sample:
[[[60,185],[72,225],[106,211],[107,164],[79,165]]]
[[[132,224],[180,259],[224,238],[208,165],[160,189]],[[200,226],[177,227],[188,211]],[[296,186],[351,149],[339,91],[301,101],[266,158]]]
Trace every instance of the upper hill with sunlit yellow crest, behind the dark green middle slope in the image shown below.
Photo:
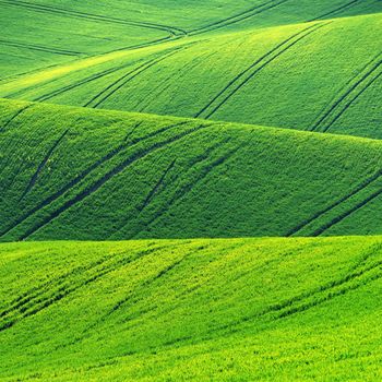
[[[23,76],[0,95],[380,139],[381,22],[194,36]]]

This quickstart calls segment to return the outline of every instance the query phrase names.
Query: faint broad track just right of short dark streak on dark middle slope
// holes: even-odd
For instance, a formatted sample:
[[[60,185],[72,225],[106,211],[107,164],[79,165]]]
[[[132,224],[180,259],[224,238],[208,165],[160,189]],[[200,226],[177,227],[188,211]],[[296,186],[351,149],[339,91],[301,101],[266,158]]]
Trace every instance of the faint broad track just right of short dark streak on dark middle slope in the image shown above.
[[[169,211],[170,207],[176,205],[179,201],[181,201],[188,193],[190,193],[201,181],[203,181],[213,170],[215,170],[217,167],[224,165],[226,162],[228,162],[241,147],[243,144],[240,144],[238,147],[235,147],[232,150],[227,151],[225,154],[220,155],[218,158],[214,159],[212,163],[204,166],[201,171],[199,172],[198,177],[190,182],[182,186],[178,192],[175,193],[175,195],[166,202],[165,205],[162,206],[162,208],[154,214],[154,216],[145,224],[145,228],[150,227],[152,224],[154,224],[156,220],[158,220],[162,216],[166,214],[166,212]],[[142,229],[138,231],[134,236],[130,237],[130,239],[133,239],[142,232]]]

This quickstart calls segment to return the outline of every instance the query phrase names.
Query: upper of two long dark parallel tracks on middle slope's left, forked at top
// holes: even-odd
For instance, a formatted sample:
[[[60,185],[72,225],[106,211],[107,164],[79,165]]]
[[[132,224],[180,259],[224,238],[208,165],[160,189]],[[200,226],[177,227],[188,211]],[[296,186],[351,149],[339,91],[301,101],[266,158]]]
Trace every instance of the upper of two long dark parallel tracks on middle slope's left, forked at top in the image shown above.
[[[3,237],[7,235],[9,231],[17,227],[20,224],[22,224],[24,220],[26,220],[28,217],[34,215],[35,213],[39,212],[40,210],[49,206],[51,203],[53,203],[56,200],[58,200],[60,196],[62,196],[64,193],[67,193],[69,190],[77,186],[81,181],[83,181],[88,175],[91,175],[94,170],[98,169],[100,166],[107,164],[109,160],[115,158],[118,154],[120,154],[122,151],[133,147],[140,142],[144,142],[147,139],[154,138],[160,133],[164,133],[172,128],[182,126],[188,123],[187,121],[184,122],[179,122],[179,123],[174,123],[167,127],[164,127],[162,129],[158,129],[152,133],[148,133],[142,139],[134,139],[134,140],[129,140],[129,136],[133,133],[133,131],[141,124],[142,122],[136,123],[131,131],[127,134],[126,139],[123,142],[119,145],[117,145],[115,148],[112,148],[110,152],[108,152],[106,155],[104,155],[102,158],[93,163],[89,167],[85,168],[79,176],[73,178],[71,181],[69,181],[67,184],[64,184],[61,189],[56,191],[53,194],[38,203],[35,207],[31,208],[27,211],[25,214],[23,214],[21,217],[16,218],[14,222],[12,222],[7,228],[4,228],[2,231],[0,231],[0,237]]]

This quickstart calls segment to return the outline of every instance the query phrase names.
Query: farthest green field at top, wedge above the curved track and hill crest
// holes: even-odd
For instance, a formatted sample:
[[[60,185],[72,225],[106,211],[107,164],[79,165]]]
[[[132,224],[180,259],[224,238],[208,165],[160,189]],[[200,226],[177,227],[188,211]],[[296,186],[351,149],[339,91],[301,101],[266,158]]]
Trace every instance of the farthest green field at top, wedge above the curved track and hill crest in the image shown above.
[[[107,3],[35,0],[33,3],[58,10],[174,25],[189,34],[294,24],[381,11],[378,0],[111,0]]]

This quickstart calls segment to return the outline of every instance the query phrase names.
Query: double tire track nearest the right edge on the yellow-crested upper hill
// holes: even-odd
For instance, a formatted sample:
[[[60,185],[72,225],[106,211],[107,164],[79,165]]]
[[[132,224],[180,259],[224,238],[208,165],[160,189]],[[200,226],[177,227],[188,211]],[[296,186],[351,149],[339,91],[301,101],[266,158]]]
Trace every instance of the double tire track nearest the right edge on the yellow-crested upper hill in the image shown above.
[[[319,116],[317,122],[314,122],[313,127],[309,129],[310,131],[318,131],[321,129],[322,132],[326,132],[351,106],[351,104],[380,77],[382,74],[380,71],[382,63],[381,56],[381,52],[377,55],[377,57],[372,60],[372,65],[370,68],[367,67],[366,70],[361,72],[361,76],[359,79],[358,74],[353,79],[355,82],[348,88],[346,88],[344,93],[339,94],[331,105],[329,105],[327,110]],[[377,75],[373,77],[375,73]],[[353,82],[353,80],[350,80],[350,82]],[[363,86],[365,83],[366,85]],[[349,97],[350,99],[348,100]]]

